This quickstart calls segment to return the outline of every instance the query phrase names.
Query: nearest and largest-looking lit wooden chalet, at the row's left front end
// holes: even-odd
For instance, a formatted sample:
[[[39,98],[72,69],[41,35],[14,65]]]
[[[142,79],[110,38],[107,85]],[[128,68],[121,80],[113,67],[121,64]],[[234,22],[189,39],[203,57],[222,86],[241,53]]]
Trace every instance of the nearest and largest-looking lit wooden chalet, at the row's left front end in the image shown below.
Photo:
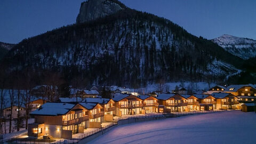
[[[47,102],[33,111],[35,122],[28,124],[29,137],[51,136],[71,139],[89,127],[89,110],[79,104]]]

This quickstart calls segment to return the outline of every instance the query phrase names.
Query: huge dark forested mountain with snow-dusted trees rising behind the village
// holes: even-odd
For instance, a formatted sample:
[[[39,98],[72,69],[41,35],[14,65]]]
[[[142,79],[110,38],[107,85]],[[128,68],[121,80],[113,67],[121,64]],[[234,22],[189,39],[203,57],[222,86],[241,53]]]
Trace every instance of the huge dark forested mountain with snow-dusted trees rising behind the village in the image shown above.
[[[82,16],[109,3],[122,9]],[[239,74],[243,62],[170,20],[132,10],[118,1],[90,0],[82,3],[76,24],[23,39],[2,65],[9,73],[51,70],[59,71],[68,81],[81,76],[96,85],[138,87],[159,79],[223,82]]]

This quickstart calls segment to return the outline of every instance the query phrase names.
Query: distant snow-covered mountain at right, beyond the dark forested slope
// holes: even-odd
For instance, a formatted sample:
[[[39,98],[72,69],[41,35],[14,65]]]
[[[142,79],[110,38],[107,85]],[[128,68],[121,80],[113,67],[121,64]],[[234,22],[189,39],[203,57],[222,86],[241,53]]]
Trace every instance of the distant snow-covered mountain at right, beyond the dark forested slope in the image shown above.
[[[212,42],[242,59],[256,57],[256,41],[253,39],[222,35],[212,39]]]

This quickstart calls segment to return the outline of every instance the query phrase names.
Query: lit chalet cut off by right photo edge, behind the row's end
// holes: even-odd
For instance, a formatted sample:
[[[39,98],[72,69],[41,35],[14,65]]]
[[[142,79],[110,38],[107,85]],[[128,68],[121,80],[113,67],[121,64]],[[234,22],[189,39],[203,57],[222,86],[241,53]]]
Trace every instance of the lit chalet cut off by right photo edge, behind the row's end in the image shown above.
[[[231,93],[235,96],[256,96],[256,85],[229,85],[225,90],[225,93]]]

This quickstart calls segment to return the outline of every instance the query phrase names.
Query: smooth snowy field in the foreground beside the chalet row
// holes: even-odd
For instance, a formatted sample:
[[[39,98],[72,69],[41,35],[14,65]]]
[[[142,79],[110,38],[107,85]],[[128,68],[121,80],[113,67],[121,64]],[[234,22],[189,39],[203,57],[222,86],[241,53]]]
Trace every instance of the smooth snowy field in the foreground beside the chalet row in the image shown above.
[[[256,114],[225,111],[121,125],[89,143],[256,143]]]

